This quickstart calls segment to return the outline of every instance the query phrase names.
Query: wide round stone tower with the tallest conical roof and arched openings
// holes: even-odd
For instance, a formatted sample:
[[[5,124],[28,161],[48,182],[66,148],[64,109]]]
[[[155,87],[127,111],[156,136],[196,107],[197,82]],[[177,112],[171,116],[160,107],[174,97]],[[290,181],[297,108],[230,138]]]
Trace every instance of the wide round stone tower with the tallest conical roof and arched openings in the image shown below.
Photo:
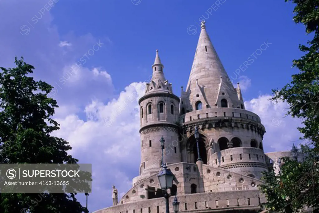
[[[260,118],[245,110],[240,85],[234,88],[201,23],[196,53],[186,91],[181,96],[181,119],[186,133],[184,160],[195,163],[194,127],[200,131],[204,164],[254,178],[267,170]]]

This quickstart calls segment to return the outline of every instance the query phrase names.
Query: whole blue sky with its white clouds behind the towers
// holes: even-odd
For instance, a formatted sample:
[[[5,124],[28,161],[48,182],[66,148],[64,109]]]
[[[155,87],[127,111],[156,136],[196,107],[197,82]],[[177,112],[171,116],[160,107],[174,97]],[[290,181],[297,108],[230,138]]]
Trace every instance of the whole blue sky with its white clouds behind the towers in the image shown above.
[[[81,163],[92,163],[90,211],[111,205],[112,184],[123,195],[138,175],[137,100],[143,95],[138,88],[152,74],[155,50],[159,49],[165,77],[179,96],[188,81],[203,19],[228,75],[234,83],[241,82],[246,109],[261,117],[267,131],[265,151],[287,150],[300,143],[295,129],[300,121],[284,117],[285,103],[267,101],[271,89],[281,88],[297,72],[291,69],[292,60],[302,55],[298,45],[310,39],[304,27],[292,20],[293,4],[284,0],[220,0],[219,5],[182,0],[53,2],[0,1],[0,66],[11,67],[14,56],[24,56],[36,68],[33,76],[55,87],[51,95],[60,106],[55,118],[61,124],[55,135],[70,142],[71,154]],[[235,75],[267,41],[271,44]],[[68,70],[85,54],[90,56],[83,67],[70,75]],[[121,106],[122,113],[112,117]],[[113,121],[106,124],[110,118]],[[79,199],[85,204],[83,195]]]

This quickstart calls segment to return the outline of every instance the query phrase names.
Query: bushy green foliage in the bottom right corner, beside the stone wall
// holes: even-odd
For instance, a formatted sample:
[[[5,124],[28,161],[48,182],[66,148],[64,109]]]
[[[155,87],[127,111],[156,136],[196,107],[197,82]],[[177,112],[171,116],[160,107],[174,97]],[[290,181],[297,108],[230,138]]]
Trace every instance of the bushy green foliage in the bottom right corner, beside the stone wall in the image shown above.
[[[285,157],[280,174],[275,175],[273,169],[263,174],[265,184],[259,188],[267,197],[265,208],[292,213],[305,206],[319,207],[319,155],[314,149],[301,146],[298,159]]]

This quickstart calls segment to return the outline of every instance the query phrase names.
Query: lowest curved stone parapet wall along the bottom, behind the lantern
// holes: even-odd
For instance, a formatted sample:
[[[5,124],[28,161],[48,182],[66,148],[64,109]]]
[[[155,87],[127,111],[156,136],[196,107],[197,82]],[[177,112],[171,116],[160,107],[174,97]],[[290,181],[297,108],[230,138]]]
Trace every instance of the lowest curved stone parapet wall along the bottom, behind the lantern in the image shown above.
[[[171,203],[174,197],[169,198],[170,212],[173,212]],[[217,193],[196,193],[178,195],[180,212],[225,212],[226,210],[258,210],[265,197],[258,190],[241,190]],[[118,204],[94,211],[93,213],[164,213],[165,198],[154,198],[137,202]]]

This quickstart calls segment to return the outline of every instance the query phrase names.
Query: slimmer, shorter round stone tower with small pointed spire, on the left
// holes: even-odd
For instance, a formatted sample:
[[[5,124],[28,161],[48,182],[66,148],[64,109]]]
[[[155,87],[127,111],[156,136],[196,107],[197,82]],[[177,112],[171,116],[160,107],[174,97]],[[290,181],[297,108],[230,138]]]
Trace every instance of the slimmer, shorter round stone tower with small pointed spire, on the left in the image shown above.
[[[179,97],[173,94],[172,84],[164,76],[164,65],[156,50],[152,65],[152,79],[146,84],[145,95],[138,103],[141,119],[141,164],[142,176],[157,173],[161,165],[161,148],[159,139],[163,136],[172,149],[165,152],[165,163],[181,162],[180,149],[172,142],[178,136]]]

